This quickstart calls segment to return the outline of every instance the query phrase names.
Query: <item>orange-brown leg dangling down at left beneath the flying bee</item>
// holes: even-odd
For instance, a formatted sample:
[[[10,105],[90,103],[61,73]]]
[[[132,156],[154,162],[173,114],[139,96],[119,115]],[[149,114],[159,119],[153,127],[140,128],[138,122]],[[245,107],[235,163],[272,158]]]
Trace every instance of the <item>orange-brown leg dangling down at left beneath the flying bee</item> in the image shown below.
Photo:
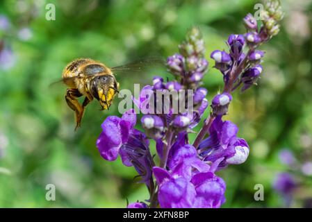
[[[75,130],[81,126],[81,119],[83,117],[83,107],[80,105],[77,97],[82,96],[78,89],[67,89],[65,100],[69,108],[75,111],[76,115],[76,127]]]

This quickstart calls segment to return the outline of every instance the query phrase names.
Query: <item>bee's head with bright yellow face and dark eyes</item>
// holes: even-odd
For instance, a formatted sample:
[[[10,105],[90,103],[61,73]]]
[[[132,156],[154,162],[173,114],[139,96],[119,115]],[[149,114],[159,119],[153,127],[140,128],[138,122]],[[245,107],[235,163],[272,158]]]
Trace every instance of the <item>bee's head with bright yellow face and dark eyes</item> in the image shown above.
[[[112,75],[97,76],[90,81],[90,92],[101,104],[104,110],[108,110],[113,97],[118,92],[116,79]]]

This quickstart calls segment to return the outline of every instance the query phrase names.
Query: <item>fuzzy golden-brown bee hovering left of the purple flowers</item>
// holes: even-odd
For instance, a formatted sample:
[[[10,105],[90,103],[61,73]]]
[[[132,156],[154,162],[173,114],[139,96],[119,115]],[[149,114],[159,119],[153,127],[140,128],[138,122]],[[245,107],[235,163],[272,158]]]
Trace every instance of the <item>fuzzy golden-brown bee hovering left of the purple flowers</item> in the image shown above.
[[[120,87],[112,69],[90,58],[79,58],[70,62],[63,70],[62,80],[69,87],[65,100],[75,112],[75,130],[81,126],[85,107],[93,99],[99,101],[101,110],[109,110]],[[77,100],[81,96],[85,96],[82,104]]]

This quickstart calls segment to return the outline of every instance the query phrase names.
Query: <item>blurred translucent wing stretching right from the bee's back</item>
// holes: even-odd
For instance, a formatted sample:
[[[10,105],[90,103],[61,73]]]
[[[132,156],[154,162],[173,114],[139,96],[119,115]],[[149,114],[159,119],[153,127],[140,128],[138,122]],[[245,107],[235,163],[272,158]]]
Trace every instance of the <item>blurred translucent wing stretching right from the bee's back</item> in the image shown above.
[[[149,68],[162,67],[165,68],[165,59],[161,57],[151,57],[141,60],[136,60],[134,62],[127,63],[126,65],[121,65],[118,67],[113,67],[111,70],[114,74],[116,73],[142,73]]]

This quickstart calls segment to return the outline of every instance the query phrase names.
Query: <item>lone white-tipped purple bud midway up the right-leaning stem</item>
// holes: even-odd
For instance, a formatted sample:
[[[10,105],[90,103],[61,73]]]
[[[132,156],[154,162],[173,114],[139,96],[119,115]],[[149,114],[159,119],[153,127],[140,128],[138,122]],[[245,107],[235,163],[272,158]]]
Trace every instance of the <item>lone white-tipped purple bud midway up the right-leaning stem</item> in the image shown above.
[[[224,115],[227,114],[229,108],[229,103],[233,97],[231,94],[224,92],[222,94],[217,94],[211,103],[211,108],[213,108],[213,114]]]

